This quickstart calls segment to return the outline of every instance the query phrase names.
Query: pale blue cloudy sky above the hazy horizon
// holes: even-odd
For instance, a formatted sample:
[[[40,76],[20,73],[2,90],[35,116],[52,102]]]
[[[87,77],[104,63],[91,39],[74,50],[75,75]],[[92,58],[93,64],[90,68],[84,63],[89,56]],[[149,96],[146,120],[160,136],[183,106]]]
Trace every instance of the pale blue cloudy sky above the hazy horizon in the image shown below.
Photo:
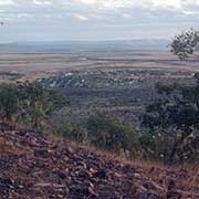
[[[0,0],[0,42],[169,39],[199,28],[199,0]]]

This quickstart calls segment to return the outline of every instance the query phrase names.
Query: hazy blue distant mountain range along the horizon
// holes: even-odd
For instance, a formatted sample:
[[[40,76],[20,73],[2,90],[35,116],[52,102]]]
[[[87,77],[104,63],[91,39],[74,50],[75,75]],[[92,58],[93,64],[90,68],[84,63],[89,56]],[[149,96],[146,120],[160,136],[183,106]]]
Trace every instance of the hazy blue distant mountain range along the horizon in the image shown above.
[[[0,44],[0,50],[163,50],[166,51],[169,40],[119,40],[119,41],[35,41]]]

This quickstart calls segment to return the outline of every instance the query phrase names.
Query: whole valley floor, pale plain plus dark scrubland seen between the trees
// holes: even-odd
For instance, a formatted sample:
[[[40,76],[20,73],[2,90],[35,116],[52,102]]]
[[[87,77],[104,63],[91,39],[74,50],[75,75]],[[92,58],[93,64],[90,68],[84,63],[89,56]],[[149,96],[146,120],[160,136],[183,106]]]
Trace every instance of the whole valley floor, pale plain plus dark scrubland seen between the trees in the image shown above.
[[[0,81],[42,81],[60,90],[71,105],[56,118],[82,123],[96,111],[133,125],[159,95],[157,82],[189,83],[196,59],[180,62],[169,50],[6,46],[0,50]]]

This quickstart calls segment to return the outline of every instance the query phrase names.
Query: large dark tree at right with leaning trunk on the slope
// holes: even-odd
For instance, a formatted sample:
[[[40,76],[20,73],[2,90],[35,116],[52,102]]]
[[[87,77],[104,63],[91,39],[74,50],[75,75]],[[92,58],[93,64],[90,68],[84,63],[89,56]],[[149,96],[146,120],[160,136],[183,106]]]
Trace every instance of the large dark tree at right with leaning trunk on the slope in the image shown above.
[[[158,85],[158,93],[165,94],[165,97],[147,106],[143,116],[143,125],[149,132],[166,135],[170,140],[170,146],[163,151],[166,164],[172,164],[177,155],[178,160],[187,159],[188,147],[185,146],[191,144],[190,139],[198,137],[196,129],[199,127],[199,78],[197,75],[196,78],[196,84],[189,86],[170,85],[168,88],[168,85]],[[181,151],[182,156],[179,156],[178,151]],[[196,148],[192,154],[197,151]]]

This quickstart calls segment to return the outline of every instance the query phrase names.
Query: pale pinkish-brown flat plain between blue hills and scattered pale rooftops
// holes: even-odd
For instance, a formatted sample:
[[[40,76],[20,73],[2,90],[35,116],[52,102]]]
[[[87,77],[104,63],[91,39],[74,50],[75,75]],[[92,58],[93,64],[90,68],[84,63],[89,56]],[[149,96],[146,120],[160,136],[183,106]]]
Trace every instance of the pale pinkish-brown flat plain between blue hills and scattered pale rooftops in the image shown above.
[[[57,72],[85,70],[198,71],[197,60],[180,62],[169,51],[0,50],[0,71]]]

